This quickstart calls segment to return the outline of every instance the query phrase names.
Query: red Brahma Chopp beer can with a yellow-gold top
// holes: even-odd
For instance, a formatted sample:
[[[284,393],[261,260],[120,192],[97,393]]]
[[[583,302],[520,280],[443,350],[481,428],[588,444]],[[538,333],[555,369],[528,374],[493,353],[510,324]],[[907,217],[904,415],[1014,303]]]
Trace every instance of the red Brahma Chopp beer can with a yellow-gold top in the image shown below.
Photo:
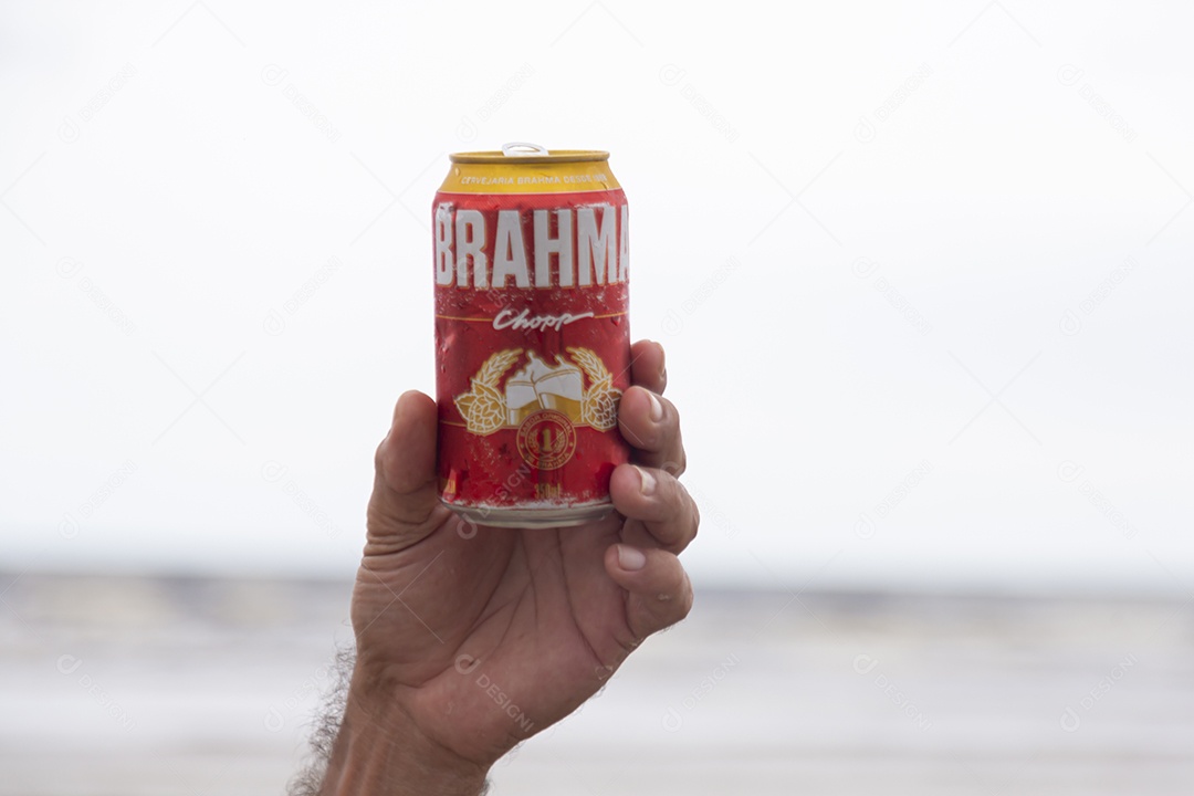
[[[609,153],[450,155],[432,208],[441,500],[468,523],[579,525],[629,459],[629,218]]]

